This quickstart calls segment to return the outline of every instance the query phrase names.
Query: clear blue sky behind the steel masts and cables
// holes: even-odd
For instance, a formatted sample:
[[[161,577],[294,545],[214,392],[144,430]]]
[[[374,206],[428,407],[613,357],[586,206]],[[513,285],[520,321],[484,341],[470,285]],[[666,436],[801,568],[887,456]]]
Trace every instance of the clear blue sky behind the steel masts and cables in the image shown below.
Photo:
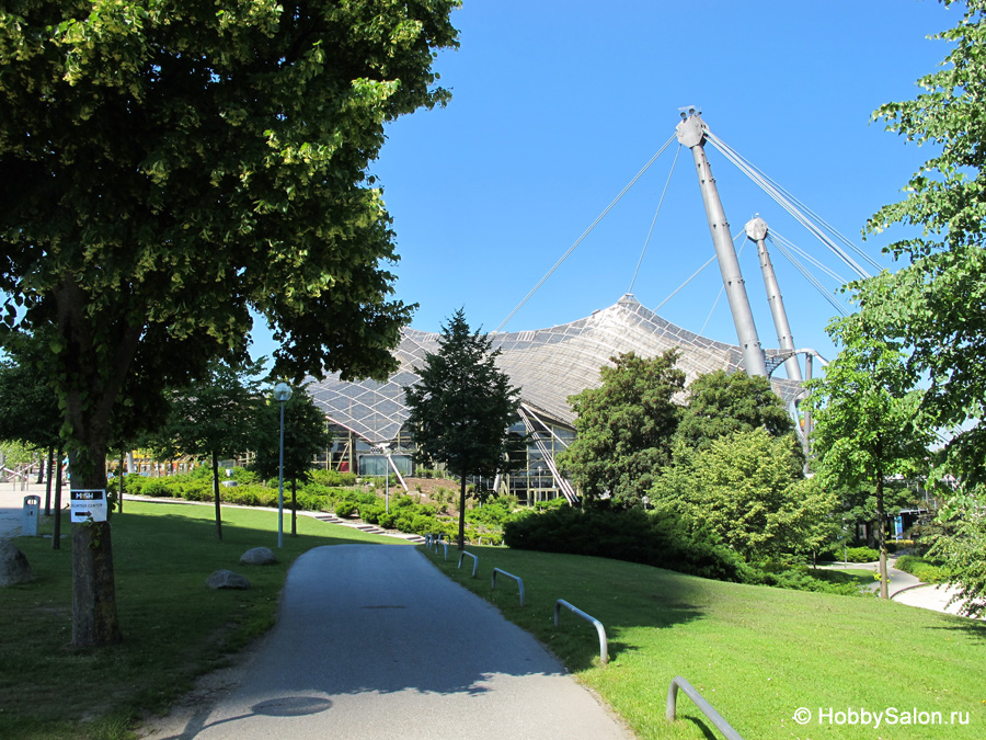
[[[451,102],[390,125],[371,168],[394,219],[398,296],[420,304],[412,326],[426,331],[459,307],[471,326],[495,329],[673,135],[683,105],[699,106],[713,133],[879,258],[903,231],[862,242],[867,217],[897,200],[932,152],[905,146],[870,115],[917,94],[915,81],[949,50],[927,36],[954,25],[962,10],[928,0],[463,5],[454,14],[461,47],[434,66]],[[507,331],[572,321],[627,292],[676,148]],[[734,234],[759,213],[836,265],[715,149],[707,151]],[[655,308],[712,253],[683,148],[634,295]],[[772,259],[795,344],[830,357],[824,327],[833,309],[779,253]],[[760,341],[777,346],[752,242],[741,264]],[[699,331],[721,285],[713,263],[658,312]],[[735,343],[724,297],[703,333]]]

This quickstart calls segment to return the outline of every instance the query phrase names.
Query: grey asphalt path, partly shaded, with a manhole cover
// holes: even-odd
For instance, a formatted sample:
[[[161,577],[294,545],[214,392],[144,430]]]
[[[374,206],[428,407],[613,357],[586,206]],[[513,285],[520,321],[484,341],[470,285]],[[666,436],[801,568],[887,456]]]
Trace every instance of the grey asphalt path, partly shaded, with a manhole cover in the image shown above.
[[[149,737],[633,737],[527,633],[416,549],[388,545],[298,558],[236,688],[180,715]]]

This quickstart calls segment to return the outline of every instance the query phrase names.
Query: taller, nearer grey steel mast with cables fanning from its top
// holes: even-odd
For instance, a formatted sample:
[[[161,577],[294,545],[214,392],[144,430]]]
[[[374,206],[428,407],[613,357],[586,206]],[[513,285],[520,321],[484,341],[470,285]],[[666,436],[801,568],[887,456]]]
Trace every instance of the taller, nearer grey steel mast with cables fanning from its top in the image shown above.
[[[709,219],[709,230],[712,232],[712,244],[715,247],[722,282],[730,300],[733,323],[736,326],[736,337],[740,340],[740,348],[743,350],[743,365],[747,375],[767,377],[767,363],[757,337],[753,311],[749,310],[746,286],[743,282],[743,274],[740,272],[740,260],[736,258],[736,250],[733,248],[733,240],[730,236],[730,224],[726,221],[722,201],[720,201],[719,191],[715,187],[715,179],[712,177],[712,170],[709,168],[709,160],[706,159],[706,150],[702,146],[706,140],[707,126],[695,109],[690,109],[688,113],[683,111],[681,118],[681,123],[676,128],[678,141],[691,149],[691,156],[695,159],[699,187],[702,191],[702,203],[706,206],[706,217]]]

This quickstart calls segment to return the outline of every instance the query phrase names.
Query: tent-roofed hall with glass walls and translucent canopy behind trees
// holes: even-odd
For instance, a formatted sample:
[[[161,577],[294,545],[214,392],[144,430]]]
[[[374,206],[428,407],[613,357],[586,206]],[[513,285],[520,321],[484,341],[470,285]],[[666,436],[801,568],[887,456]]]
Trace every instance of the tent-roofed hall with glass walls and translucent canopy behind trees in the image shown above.
[[[308,392],[334,422],[335,442],[329,454],[334,469],[375,475],[370,470],[377,469],[377,457],[382,459],[383,445],[395,451],[395,460],[399,456],[406,460],[400,465],[410,466],[414,445],[406,429],[404,387],[417,382],[415,368],[424,365],[427,353],[438,351],[438,338],[404,329],[394,350],[399,367],[383,383],[347,383],[337,375],[321,382],[309,378]],[[740,371],[743,362],[738,346],[676,327],[632,295],[578,321],[536,331],[492,332],[490,339],[501,351],[497,366],[520,388],[524,421],[515,431],[530,433],[534,440],[524,459],[516,460],[519,468],[496,481],[497,492],[508,491],[529,503],[574,496],[564,471],[554,465],[554,456],[575,437],[575,415],[567,399],[598,387],[599,368],[611,356],[634,352],[652,357],[677,348],[681,351],[678,367],[687,383],[718,369]],[[779,352],[767,350],[768,366]],[[771,378],[771,384],[788,405],[801,392],[793,380]]]

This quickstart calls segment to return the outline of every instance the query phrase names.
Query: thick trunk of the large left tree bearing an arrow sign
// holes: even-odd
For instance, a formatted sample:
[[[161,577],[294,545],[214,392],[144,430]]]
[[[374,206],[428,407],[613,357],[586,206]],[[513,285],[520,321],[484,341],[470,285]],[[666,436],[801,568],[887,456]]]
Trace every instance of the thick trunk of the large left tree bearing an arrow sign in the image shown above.
[[[69,454],[72,488],[106,490],[106,445]],[[116,614],[110,522],[72,525],[72,647],[93,648],[123,640]]]

